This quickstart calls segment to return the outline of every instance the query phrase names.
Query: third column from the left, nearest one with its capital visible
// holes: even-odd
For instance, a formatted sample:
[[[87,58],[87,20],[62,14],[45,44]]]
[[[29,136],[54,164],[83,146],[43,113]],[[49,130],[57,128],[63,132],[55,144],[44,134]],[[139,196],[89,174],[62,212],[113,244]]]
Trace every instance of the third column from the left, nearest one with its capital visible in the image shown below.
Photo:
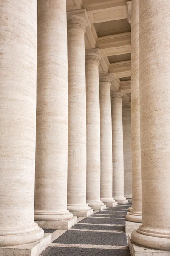
[[[68,209],[92,214],[86,204],[85,10],[68,12]]]

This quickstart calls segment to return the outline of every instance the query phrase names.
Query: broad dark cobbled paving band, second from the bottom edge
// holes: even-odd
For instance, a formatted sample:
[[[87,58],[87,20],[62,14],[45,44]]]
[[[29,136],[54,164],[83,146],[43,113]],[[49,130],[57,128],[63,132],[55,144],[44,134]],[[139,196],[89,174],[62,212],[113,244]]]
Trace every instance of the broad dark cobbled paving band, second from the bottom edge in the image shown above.
[[[125,233],[107,233],[67,230],[53,243],[59,244],[98,244],[127,246]]]

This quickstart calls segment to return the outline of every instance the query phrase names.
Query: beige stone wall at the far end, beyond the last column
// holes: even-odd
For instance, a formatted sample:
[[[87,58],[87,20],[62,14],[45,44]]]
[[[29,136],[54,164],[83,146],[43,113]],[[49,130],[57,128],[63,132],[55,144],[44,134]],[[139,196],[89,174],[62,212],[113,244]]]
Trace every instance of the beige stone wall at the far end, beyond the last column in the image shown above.
[[[130,108],[122,108],[123,151],[124,151],[124,196],[132,197],[132,157],[131,157],[131,113]]]

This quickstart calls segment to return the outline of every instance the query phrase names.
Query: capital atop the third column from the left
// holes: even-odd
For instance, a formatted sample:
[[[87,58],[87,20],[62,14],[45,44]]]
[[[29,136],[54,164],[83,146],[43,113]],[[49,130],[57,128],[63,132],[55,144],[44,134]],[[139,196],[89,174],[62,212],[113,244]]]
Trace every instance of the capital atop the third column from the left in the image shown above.
[[[86,30],[86,28],[90,26],[87,11],[85,9],[68,11],[67,26],[81,27],[82,29]]]

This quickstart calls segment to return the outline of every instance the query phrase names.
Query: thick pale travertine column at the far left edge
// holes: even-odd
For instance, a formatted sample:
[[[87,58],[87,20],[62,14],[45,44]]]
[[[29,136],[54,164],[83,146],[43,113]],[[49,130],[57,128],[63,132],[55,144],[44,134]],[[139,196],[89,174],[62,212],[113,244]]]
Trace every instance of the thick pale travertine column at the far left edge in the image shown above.
[[[0,246],[42,239],[34,223],[37,1],[0,1]],[[0,248],[0,255],[8,251]],[[19,249],[18,249],[19,250]]]

